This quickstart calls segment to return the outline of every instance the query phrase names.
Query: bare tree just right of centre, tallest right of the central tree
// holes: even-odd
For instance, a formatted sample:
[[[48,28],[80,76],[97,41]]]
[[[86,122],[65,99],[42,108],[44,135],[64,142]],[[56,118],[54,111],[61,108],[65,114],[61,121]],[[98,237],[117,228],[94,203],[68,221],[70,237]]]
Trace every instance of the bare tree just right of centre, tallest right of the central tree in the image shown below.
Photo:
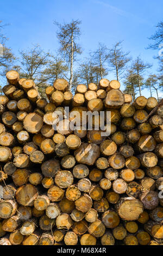
[[[126,64],[131,60],[129,52],[124,53],[122,51],[122,41],[117,42],[108,53],[108,64],[112,70],[116,71],[117,80],[120,80],[120,76],[123,74]],[[112,71],[110,70],[110,71]]]

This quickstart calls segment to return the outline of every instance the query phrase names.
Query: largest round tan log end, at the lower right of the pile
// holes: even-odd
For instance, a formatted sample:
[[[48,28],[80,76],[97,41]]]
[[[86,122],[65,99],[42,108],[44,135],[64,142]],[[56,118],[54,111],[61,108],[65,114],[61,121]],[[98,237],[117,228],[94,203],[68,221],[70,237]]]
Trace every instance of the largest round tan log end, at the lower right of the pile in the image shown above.
[[[122,220],[134,221],[143,212],[143,204],[138,199],[126,197],[118,201],[116,209]]]

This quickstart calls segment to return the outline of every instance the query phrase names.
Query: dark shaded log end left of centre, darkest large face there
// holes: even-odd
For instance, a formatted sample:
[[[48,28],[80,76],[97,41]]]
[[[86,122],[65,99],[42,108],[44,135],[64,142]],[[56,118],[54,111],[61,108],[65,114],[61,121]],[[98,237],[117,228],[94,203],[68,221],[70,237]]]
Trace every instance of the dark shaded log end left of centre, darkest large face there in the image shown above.
[[[47,177],[54,177],[60,170],[60,163],[58,160],[47,160],[41,165],[42,174]]]

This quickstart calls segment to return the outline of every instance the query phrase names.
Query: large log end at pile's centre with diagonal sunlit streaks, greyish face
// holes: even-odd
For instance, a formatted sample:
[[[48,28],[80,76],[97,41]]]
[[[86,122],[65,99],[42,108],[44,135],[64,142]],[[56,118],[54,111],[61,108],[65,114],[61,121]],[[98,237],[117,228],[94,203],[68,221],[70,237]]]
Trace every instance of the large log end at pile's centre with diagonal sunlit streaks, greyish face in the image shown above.
[[[76,151],[74,156],[77,162],[93,165],[100,155],[99,147],[96,144],[83,143]]]

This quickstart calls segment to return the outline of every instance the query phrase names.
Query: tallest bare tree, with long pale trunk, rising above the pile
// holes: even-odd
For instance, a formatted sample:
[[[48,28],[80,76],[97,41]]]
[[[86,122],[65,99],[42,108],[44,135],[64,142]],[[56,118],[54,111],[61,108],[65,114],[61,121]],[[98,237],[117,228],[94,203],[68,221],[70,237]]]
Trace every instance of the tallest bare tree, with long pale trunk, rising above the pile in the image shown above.
[[[59,31],[57,32],[57,38],[60,42],[60,51],[64,54],[64,57],[67,59],[68,65],[70,65],[70,91],[72,89],[72,81],[73,81],[73,62],[77,56],[77,54],[82,53],[82,48],[78,44],[80,32],[81,21],[72,20],[70,23],[64,23],[61,25],[60,23],[54,21],[54,25],[57,25]]]

